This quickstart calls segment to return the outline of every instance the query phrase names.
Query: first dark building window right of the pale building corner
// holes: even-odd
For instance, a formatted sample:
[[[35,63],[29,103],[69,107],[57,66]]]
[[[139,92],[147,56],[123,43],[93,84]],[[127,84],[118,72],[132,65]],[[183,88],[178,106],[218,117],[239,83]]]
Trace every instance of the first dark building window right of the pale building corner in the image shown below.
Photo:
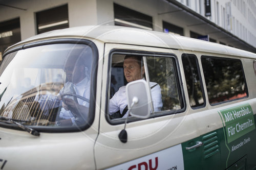
[[[115,26],[125,26],[153,30],[151,16],[114,3]]]

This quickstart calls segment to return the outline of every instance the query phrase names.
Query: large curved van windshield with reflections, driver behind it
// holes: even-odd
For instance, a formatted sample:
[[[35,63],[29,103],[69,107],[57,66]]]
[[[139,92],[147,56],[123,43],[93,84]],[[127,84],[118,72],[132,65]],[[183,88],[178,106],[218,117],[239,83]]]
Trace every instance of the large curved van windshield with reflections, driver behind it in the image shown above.
[[[42,130],[88,126],[92,60],[89,45],[72,43],[6,55],[0,67],[0,116]]]

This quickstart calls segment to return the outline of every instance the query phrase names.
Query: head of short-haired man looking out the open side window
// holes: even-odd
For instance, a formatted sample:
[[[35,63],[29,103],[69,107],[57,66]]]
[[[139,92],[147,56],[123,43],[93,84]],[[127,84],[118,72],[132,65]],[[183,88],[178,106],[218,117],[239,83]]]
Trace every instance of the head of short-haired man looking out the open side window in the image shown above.
[[[127,82],[132,82],[135,80],[142,79],[144,74],[144,67],[141,67],[135,58],[127,58],[123,62],[123,72]]]

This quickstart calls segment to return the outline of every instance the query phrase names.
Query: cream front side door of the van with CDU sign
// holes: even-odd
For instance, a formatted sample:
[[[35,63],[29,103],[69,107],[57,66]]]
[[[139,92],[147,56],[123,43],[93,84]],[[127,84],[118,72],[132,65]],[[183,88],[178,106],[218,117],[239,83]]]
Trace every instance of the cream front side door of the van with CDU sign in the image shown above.
[[[186,109],[182,87],[178,51],[124,44],[105,44],[102,99],[99,135],[95,143],[97,169],[184,169],[184,143],[198,137],[198,127],[192,114]],[[127,142],[118,138],[124,129],[124,118],[110,117],[111,74],[120,82],[123,59],[126,55],[146,57],[150,82],[161,88],[162,105],[154,105],[150,118],[128,117],[126,124]],[[116,70],[116,72],[112,72]],[[122,75],[118,77],[118,72]],[[112,82],[112,84],[117,84]],[[123,83],[123,84],[122,84]],[[121,82],[125,85],[125,80]],[[155,87],[154,87],[155,88]],[[153,89],[151,89],[152,95]],[[195,140],[196,142],[196,140]],[[186,145],[191,147],[194,141]],[[199,147],[200,148],[200,147]],[[201,149],[191,149],[192,162],[201,169]],[[191,159],[193,158],[193,159]]]

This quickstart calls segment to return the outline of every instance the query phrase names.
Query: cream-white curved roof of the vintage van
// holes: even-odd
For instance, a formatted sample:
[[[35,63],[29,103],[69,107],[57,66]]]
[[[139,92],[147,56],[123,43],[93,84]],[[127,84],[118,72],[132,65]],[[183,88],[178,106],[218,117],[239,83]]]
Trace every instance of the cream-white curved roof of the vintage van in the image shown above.
[[[143,29],[120,26],[83,26],[62,30],[54,30],[32,36],[28,39],[25,39],[24,41],[20,41],[14,44],[10,48],[34,41],[70,37],[82,39],[96,39],[105,43],[154,46],[172,48],[177,50],[219,53],[256,58],[256,54],[254,53],[239,50],[237,48],[214,42],[207,42],[175,34],[167,34],[157,31],[148,31]]]

